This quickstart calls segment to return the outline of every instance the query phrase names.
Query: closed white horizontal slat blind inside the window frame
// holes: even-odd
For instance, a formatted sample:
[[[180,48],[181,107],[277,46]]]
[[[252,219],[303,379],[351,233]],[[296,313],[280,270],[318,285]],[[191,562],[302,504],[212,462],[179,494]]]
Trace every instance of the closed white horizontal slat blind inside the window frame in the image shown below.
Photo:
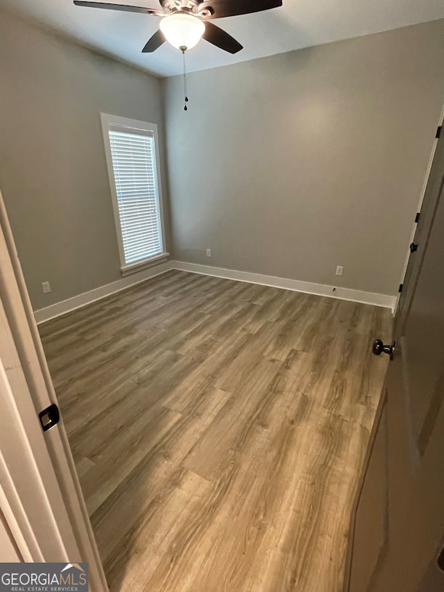
[[[155,142],[148,130],[108,129],[125,264],[163,251]]]

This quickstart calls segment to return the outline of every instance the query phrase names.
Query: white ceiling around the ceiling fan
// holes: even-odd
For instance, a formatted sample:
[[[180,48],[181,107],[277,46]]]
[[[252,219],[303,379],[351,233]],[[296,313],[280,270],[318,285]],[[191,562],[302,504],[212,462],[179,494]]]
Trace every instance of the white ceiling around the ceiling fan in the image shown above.
[[[158,0],[114,1],[159,7]],[[244,49],[232,56],[200,41],[187,52],[187,69],[213,68],[444,18],[443,0],[283,0],[283,5],[253,15],[217,19],[214,24],[241,42]],[[80,8],[71,0],[0,0],[0,6],[157,76],[182,71],[180,52],[167,43],[155,53],[141,53],[159,26],[158,17]]]

